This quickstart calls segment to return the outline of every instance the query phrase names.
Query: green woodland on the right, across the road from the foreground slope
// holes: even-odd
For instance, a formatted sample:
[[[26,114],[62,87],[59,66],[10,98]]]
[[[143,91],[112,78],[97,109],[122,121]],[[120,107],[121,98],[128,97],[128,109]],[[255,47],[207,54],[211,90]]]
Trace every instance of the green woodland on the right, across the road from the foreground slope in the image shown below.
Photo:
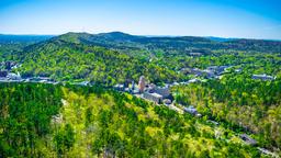
[[[280,147],[280,79],[260,81],[245,75],[227,75],[222,80],[175,90],[184,94],[201,113],[225,122],[225,126],[237,132],[256,133],[262,146]]]

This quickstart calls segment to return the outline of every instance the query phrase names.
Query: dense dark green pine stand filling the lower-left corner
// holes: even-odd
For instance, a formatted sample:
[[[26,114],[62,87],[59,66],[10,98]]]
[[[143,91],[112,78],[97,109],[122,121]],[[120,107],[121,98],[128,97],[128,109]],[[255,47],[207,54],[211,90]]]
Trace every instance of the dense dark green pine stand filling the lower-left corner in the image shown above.
[[[49,123],[58,113],[61,91],[49,84],[0,84],[1,156],[41,155],[36,148],[52,132]]]

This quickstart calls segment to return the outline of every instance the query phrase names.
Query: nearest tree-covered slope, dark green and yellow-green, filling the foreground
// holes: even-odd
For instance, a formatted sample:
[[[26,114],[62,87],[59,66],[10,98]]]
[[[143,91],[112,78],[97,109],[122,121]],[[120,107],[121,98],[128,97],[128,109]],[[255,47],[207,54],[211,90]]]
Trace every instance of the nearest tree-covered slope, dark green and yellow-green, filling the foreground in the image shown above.
[[[260,157],[229,129],[130,94],[0,87],[0,157]]]

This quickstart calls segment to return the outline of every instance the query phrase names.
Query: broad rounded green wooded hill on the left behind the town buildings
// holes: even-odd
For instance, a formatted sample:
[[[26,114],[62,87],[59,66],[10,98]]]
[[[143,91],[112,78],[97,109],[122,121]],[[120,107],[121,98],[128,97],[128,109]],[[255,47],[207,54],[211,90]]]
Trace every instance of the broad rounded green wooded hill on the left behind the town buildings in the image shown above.
[[[69,36],[70,34],[68,34]],[[86,34],[83,34],[86,35]],[[77,43],[76,34],[27,46],[16,54],[23,77],[45,76],[56,80],[89,80],[114,84],[146,75],[151,81],[173,81],[178,76],[168,68],[148,64],[117,50]],[[149,71],[148,71],[149,70]]]

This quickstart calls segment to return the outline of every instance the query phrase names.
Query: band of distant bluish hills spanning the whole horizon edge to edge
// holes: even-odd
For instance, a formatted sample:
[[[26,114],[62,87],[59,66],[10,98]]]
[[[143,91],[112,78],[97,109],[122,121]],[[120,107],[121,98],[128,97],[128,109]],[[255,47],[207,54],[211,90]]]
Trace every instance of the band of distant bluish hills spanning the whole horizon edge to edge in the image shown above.
[[[268,40],[244,40],[222,37],[195,37],[195,36],[139,36],[122,32],[100,34],[69,32],[59,36],[52,35],[0,35],[0,43],[35,44],[44,41],[64,41],[75,44],[102,46],[117,49],[128,55],[128,50],[144,50],[146,54],[159,53],[169,55],[184,55],[193,50],[212,52],[217,49],[254,50],[261,53],[281,52],[281,42]],[[137,54],[139,55],[139,54]]]

